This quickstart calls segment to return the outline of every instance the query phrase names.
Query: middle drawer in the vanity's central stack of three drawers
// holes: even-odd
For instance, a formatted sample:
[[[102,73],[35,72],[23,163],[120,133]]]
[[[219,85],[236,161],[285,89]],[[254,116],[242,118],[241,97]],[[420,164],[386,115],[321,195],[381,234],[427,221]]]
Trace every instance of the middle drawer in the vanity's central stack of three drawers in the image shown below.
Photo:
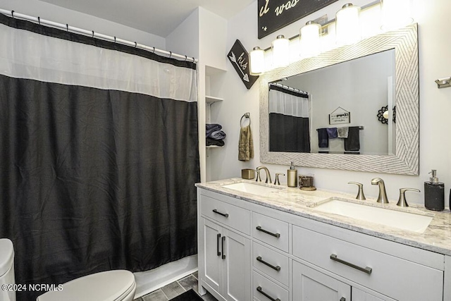
[[[289,286],[290,264],[288,257],[254,242],[252,248],[254,268],[272,277],[276,281]]]

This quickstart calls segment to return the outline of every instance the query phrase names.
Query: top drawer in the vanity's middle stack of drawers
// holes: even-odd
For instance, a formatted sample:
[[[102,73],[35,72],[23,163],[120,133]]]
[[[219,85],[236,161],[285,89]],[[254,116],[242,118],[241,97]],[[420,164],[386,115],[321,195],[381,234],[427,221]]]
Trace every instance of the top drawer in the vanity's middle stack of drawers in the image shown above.
[[[288,223],[269,216],[252,213],[252,235],[280,250],[288,252]]]

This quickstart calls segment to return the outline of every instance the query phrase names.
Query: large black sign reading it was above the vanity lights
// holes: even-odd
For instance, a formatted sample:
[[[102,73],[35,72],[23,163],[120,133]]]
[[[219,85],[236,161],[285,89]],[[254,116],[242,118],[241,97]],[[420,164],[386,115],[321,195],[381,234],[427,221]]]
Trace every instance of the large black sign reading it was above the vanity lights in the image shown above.
[[[338,0],[259,0],[259,39]]]

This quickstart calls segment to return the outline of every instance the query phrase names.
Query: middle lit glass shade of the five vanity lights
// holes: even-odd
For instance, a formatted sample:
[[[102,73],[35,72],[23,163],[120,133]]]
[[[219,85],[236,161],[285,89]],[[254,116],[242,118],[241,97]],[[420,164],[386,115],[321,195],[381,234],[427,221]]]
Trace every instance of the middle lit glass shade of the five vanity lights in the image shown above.
[[[299,34],[300,56],[302,59],[307,59],[311,56],[317,56],[321,53],[320,40],[321,25],[309,21],[301,27]]]

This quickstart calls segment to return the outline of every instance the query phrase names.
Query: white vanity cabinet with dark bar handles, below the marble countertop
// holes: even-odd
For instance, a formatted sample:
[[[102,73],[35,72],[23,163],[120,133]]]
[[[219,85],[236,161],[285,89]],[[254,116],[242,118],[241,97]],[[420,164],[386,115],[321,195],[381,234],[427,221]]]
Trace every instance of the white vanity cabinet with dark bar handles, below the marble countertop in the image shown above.
[[[444,301],[450,293],[443,254],[202,188],[198,212],[199,292],[218,300]]]

